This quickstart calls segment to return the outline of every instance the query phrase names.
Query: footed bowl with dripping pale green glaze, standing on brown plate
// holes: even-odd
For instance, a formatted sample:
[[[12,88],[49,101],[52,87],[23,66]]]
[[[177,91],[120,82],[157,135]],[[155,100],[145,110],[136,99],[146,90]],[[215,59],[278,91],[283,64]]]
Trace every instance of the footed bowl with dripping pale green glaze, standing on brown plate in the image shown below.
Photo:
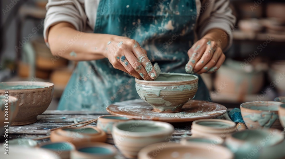
[[[198,77],[192,74],[160,73],[155,81],[135,81],[137,93],[155,112],[180,112],[198,90]]]

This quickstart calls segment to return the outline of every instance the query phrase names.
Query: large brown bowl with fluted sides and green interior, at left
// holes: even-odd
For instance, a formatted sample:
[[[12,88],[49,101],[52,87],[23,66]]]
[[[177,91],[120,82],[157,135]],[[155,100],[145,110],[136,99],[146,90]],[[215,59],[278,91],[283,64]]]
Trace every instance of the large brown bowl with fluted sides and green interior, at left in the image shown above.
[[[37,116],[42,114],[50,105],[54,91],[54,84],[49,82],[1,82],[0,95],[5,91],[9,96],[19,100],[19,111],[11,126],[28,125],[37,121]]]

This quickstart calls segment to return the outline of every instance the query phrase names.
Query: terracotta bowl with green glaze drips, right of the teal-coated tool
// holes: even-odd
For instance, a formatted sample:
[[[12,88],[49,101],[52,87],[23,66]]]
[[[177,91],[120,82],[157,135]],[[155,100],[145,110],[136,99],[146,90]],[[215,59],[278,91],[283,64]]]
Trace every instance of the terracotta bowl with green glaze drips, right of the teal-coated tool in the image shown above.
[[[257,101],[241,104],[241,116],[249,129],[282,129],[278,117],[281,102]]]

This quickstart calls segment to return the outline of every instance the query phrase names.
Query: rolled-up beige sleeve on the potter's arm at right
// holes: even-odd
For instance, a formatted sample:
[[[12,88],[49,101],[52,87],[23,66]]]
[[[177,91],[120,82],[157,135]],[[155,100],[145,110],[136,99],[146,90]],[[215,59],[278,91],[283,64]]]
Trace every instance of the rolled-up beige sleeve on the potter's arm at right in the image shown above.
[[[228,45],[223,49],[226,51],[232,44],[232,31],[235,28],[236,18],[229,7],[229,0],[205,0],[201,4],[198,20],[198,38],[203,37],[211,29],[221,29],[227,34],[221,35],[221,39],[228,36]]]

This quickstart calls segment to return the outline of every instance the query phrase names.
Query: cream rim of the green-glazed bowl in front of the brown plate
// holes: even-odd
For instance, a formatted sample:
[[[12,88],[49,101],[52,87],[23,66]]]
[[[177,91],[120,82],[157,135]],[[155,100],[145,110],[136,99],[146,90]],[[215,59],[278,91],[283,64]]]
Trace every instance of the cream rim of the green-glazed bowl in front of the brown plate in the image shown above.
[[[129,123],[134,124],[137,121],[142,121],[143,123],[150,124],[150,125],[159,125],[160,127],[163,127],[164,130],[154,131],[154,132],[132,132],[132,131],[121,130],[117,127],[118,125],[122,125],[122,124],[129,124]],[[174,126],[167,122],[159,122],[159,121],[153,121],[153,120],[128,120],[128,121],[118,122],[113,125],[112,135],[113,133],[114,134],[115,133],[126,134],[127,132],[129,132],[128,136],[132,136],[132,137],[150,137],[150,136],[156,136],[156,135],[162,135],[162,134],[172,134],[174,132]]]

